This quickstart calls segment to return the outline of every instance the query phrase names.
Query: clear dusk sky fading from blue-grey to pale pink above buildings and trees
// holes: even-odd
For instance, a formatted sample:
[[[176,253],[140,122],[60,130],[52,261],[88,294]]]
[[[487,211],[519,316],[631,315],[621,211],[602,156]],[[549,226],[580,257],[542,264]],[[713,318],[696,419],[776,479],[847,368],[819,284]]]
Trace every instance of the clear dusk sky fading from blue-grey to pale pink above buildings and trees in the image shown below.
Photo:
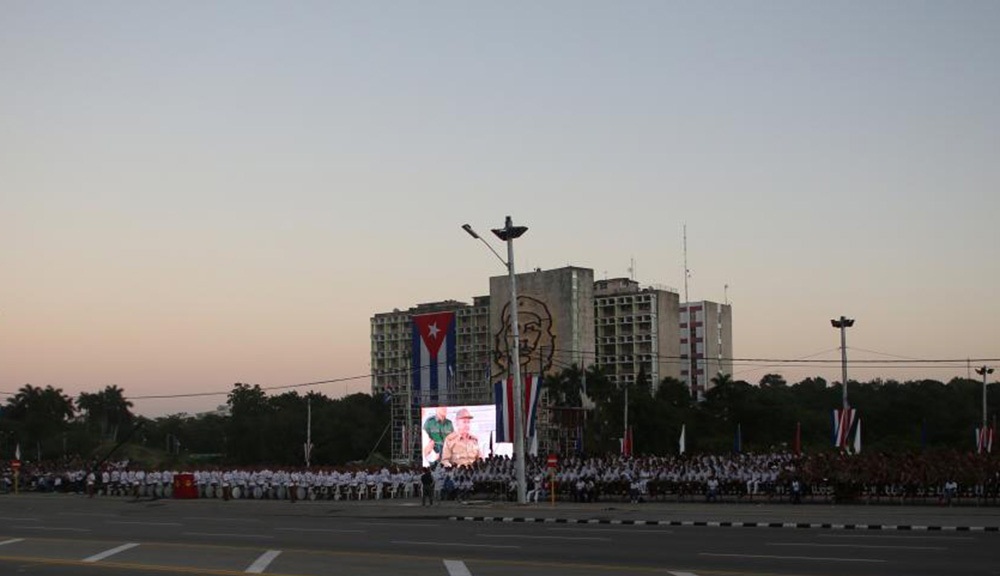
[[[370,389],[519,270],[733,305],[738,359],[1000,368],[1000,3],[0,0],[0,400]],[[496,244],[498,251],[504,249]],[[631,269],[631,270],[630,270]],[[840,380],[840,365],[737,363]],[[978,378],[974,373],[972,376]],[[188,398],[150,396],[210,394]]]

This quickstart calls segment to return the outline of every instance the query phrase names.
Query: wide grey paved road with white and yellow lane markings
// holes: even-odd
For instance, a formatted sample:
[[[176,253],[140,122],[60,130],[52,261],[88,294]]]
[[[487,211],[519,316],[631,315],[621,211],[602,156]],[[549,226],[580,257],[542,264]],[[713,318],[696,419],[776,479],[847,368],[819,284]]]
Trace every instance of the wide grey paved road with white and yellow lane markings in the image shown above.
[[[865,529],[685,524],[722,522]],[[0,497],[0,574],[1000,575],[1000,533],[986,531],[998,525],[995,508],[423,508],[403,500],[134,502],[22,494]]]

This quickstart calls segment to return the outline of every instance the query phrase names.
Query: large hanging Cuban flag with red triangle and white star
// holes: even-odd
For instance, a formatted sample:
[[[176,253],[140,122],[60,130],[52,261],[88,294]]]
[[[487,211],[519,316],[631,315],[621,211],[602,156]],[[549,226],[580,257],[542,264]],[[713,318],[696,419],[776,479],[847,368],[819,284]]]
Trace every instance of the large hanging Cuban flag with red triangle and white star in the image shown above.
[[[448,403],[451,375],[455,373],[455,313],[414,316],[413,401],[420,406]]]

